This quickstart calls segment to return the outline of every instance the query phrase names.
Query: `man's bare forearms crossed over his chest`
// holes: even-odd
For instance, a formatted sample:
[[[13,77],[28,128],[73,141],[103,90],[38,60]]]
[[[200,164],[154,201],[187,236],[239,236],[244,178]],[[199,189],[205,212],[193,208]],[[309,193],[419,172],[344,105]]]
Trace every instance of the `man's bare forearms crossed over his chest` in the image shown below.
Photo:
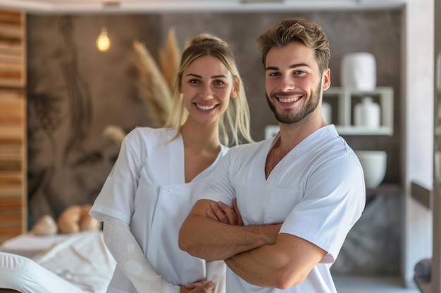
[[[220,260],[247,282],[287,289],[298,285],[326,252],[279,233],[281,224],[243,226],[239,209],[199,200],[179,232],[179,247],[201,259]]]

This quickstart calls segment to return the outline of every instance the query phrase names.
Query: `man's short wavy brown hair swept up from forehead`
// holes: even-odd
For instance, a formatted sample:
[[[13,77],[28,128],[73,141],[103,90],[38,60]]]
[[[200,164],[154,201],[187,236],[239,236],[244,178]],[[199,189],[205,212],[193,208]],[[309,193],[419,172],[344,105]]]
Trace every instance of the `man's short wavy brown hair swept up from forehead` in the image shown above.
[[[282,47],[298,41],[316,51],[316,60],[320,72],[329,65],[330,49],[325,33],[319,25],[304,18],[288,18],[276,23],[257,38],[262,53],[263,66],[266,56],[273,47]]]

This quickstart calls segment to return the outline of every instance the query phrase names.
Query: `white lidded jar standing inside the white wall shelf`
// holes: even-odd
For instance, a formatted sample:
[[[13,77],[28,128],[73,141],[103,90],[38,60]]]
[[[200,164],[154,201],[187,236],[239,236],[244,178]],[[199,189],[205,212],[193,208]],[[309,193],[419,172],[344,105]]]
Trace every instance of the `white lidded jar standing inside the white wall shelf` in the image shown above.
[[[368,128],[380,126],[380,105],[374,103],[371,97],[364,97],[361,103],[354,106],[354,124]]]

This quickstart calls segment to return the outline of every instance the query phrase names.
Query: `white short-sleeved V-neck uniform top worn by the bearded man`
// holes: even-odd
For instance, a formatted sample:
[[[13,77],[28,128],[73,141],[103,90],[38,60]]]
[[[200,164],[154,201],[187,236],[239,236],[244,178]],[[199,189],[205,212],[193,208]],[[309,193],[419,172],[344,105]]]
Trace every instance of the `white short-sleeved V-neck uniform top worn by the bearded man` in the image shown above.
[[[363,170],[333,125],[315,131],[265,178],[265,162],[278,140],[232,148],[213,172],[206,198],[237,198],[244,225],[282,223],[280,233],[302,237],[328,254],[302,284],[280,290],[256,287],[227,271],[227,292],[335,293],[330,265],[366,200]]]

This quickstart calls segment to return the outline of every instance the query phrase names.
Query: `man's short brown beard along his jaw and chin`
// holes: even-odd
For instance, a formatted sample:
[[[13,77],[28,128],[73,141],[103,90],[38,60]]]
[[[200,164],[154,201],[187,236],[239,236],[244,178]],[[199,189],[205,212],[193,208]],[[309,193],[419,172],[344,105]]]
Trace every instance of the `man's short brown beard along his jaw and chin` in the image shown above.
[[[266,101],[268,102],[268,106],[270,107],[271,111],[273,111],[275,119],[277,119],[278,122],[283,124],[294,124],[311,114],[313,110],[316,110],[318,103],[320,102],[321,86],[322,82],[318,84],[316,91],[311,92],[311,97],[306,101],[303,108],[297,113],[277,112],[271,99],[268,98],[268,94],[265,94]],[[306,99],[307,98],[308,97],[306,97]]]

